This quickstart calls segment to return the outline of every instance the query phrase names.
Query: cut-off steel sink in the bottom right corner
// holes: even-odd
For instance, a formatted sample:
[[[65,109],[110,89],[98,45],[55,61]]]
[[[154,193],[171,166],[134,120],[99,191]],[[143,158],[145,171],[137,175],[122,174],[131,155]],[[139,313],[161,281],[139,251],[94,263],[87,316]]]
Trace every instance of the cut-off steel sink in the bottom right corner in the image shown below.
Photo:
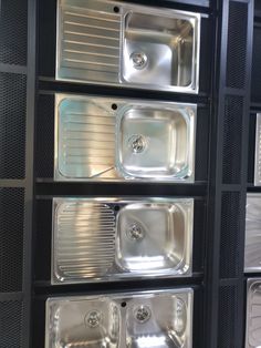
[[[248,279],[246,348],[261,347],[261,279]]]

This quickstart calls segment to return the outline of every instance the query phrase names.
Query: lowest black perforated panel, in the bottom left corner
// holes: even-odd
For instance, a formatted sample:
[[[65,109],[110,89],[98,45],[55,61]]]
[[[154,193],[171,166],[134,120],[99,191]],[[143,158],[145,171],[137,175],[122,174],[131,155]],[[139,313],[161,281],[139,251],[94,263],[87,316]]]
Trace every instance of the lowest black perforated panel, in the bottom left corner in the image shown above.
[[[0,347],[22,347],[22,303],[0,301]],[[4,332],[4,335],[2,335]]]

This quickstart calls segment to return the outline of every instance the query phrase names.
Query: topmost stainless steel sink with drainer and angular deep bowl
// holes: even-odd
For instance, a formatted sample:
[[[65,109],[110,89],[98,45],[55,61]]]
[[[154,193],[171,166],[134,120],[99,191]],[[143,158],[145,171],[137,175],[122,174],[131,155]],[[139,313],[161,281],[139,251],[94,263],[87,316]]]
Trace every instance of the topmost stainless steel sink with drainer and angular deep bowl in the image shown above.
[[[58,80],[197,93],[199,45],[197,13],[106,0],[58,2]]]

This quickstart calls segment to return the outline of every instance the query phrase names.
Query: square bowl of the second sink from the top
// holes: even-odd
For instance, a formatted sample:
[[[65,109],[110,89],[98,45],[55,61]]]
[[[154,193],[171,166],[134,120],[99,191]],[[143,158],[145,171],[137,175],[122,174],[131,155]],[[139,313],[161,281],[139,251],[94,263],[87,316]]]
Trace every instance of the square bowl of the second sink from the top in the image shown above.
[[[192,112],[132,108],[117,121],[116,164],[125,177],[192,175]]]

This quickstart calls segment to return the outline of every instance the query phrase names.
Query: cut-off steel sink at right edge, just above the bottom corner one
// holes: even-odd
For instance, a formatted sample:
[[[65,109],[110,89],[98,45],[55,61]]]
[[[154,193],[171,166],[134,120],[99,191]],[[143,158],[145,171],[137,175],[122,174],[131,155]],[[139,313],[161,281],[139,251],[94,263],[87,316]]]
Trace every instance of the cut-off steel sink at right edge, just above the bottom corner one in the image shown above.
[[[261,272],[261,194],[247,195],[244,272]]]

